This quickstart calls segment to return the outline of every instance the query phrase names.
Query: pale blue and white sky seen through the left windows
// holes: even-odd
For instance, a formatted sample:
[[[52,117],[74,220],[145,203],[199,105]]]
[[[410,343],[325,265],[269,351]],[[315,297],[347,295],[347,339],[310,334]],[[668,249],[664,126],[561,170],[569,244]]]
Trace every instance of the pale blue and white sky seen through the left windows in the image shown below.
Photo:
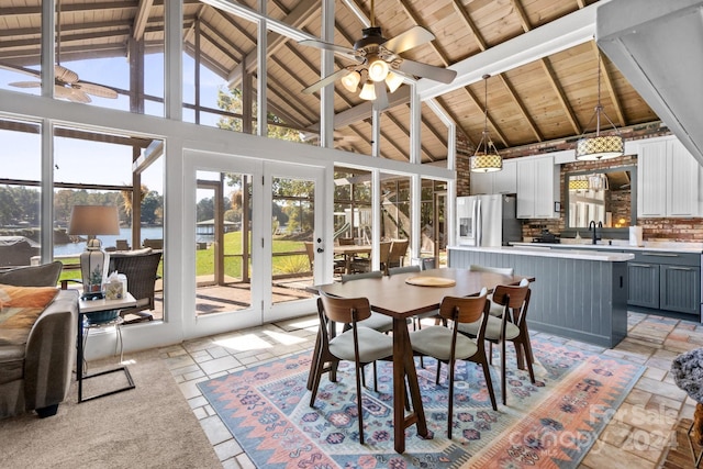
[[[76,71],[81,80],[98,82],[103,86],[129,89],[129,63],[124,57],[102,58],[80,62],[62,63],[63,66]],[[194,63],[183,56],[183,100],[194,101]],[[147,94],[163,97],[164,70],[160,54],[145,57],[145,91]],[[36,81],[32,76],[13,72],[0,68],[0,88],[41,94],[40,88],[18,88],[9,83],[16,81]],[[201,71],[201,102],[216,108],[217,91],[224,87],[224,81],[202,68]],[[92,102],[83,105],[129,111],[129,99],[120,96],[116,100],[91,97]],[[146,113],[163,115],[159,103],[146,105]],[[188,115],[188,113],[186,113]],[[191,113],[192,115],[192,113]],[[215,119],[209,116],[205,125],[214,125]],[[208,118],[204,118],[208,119]],[[0,177],[16,179],[40,179],[41,174],[41,138],[37,134],[23,132],[0,131]],[[91,182],[104,185],[131,185],[132,150],[123,145],[108,145],[75,138],[58,137],[55,139],[55,176],[56,181]],[[18,164],[22,161],[22,164]],[[142,182],[149,190],[163,193],[163,165],[154,165],[142,175]]]

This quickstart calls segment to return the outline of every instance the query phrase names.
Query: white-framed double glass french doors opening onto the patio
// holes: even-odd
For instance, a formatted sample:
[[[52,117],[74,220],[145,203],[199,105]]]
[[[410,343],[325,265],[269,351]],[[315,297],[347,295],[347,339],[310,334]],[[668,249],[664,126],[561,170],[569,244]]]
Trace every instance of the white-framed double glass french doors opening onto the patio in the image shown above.
[[[189,327],[210,334],[314,312],[308,288],[322,282],[326,261],[323,168],[232,156],[198,160],[207,164],[192,169]]]

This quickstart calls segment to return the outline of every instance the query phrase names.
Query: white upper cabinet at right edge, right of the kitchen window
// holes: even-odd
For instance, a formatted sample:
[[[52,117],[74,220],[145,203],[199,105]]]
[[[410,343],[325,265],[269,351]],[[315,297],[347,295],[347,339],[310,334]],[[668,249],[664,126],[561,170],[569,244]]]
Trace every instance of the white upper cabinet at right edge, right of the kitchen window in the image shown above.
[[[638,143],[637,216],[700,216],[701,167],[676,137]]]

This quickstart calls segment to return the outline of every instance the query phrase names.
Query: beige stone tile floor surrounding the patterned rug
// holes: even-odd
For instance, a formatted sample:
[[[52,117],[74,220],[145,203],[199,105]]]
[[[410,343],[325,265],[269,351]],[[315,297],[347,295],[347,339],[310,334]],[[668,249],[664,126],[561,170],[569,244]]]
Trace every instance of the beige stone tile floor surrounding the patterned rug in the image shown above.
[[[316,316],[267,324],[227,334],[188,340],[160,349],[224,468],[254,468],[197,383],[235,372],[261,361],[311,349]],[[538,333],[533,333],[537,335]],[[703,346],[703,325],[657,315],[629,313],[628,336],[613,349],[562,339],[574,347],[641,364],[646,371],[613,415],[581,467],[659,468],[677,446],[681,418],[693,416],[695,401],[673,382],[671,360]]]

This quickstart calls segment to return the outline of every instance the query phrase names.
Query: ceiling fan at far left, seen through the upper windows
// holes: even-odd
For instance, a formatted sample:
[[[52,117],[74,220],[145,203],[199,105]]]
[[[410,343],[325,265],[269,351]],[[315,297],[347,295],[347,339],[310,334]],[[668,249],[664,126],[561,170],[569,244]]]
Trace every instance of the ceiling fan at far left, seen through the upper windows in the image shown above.
[[[62,7],[60,0],[56,1],[56,65],[54,65],[54,94],[56,98],[67,99],[74,102],[88,103],[92,100],[88,94],[97,96],[100,98],[116,99],[118,92],[111,88],[103,87],[102,85],[93,83],[90,81],[82,81],[78,78],[78,74],[60,65],[60,51],[62,51],[62,30],[60,30],[60,15]],[[10,67],[4,67],[10,68]],[[32,75],[37,79],[41,75],[36,70],[30,68],[14,68],[27,75]],[[14,81],[8,83],[18,88],[41,88],[41,81]]]

